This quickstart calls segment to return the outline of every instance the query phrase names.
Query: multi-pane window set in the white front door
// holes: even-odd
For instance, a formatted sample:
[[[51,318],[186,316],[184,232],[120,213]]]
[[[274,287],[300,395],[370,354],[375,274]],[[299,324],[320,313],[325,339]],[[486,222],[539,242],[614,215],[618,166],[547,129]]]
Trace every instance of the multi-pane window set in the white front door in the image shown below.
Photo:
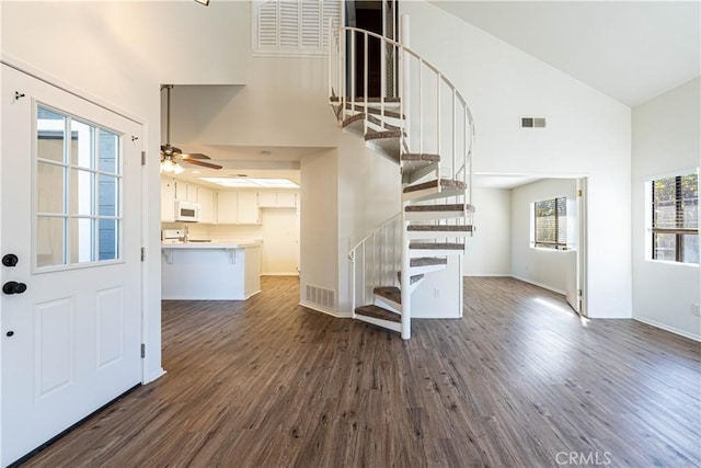
[[[36,266],[120,258],[122,137],[78,117],[36,110]]]

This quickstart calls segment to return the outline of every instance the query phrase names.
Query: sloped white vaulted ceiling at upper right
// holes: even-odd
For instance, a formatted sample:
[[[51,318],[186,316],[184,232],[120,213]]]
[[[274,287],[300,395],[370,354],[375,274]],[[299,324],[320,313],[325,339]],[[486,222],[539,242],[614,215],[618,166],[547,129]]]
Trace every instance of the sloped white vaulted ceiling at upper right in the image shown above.
[[[631,107],[700,75],[698,0],[432,3]]]

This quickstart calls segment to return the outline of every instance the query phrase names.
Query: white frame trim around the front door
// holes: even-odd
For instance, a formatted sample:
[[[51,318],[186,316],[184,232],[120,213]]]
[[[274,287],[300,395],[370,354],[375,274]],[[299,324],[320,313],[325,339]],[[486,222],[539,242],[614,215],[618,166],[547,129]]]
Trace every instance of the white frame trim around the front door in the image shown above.
[[[136,116],[125,110],[122,110],[115,105],[113,105],[112,103],[107,103],[103,100],[101,100],[100,98],[96,98],[94,95],[91,95],[88,92],[84,92],[81,89],[78,89],[69,83],[66,83],[55,77],[50,77],[47,73],[43,72],[42,70],[36,69],[35,67],[33,67],[30,64],[26,64],[22,60],[19,60],[14,57],[10,57],[7,54],[2,54],[0,56],[0,65],[4,65],[8,66],[10,68],[13,68],[18,71],[20,71],[21,73],[26,75],[27,77],[37,79],[39,81],[43,81],[60,91],[64,91],[68,94],[74,95],[83,101],[87,101],[93,105],[96,105],[99,107],[102,107],[106,111],[110,111],[114,114],[117,114],[128,121],[134,122],[135,124],[139,125],[141,127],[141,138],[143,138],[142,141],[142,148],[148,148],[148,124],[146,118]],[[0,158],[2,157],[2,155],[0,155]],[[140,172],[140,178],[141,178],[141,187],[142,187],[142,194],[148,194],[148,178],[147,178],[147,165],[141,165],[141,172]],[[1,182],[0,182],[1,183]],[[1,187],[0,187],[1,189]],[[145,247],[147,244],[146,240],[148,239],[148,213],[149,213],[149,203],[148,203],[148,196],[142,196],[142,202],[141,202],[141,246]],[[0,204],[0,222],[2,222],[2,204]],[[1,229],[0,229],[0,250],[2,249],[3,246],[3,241],[2,241],[2,237],[1,237]],[[141,289],[141,342],[146,345],[146,347],[148,349],[149,345],[149,340],[148,340],[148,329],[147,329],[147,324],[148,324],[148,313],[146,313],[146,305],[147,305],[147,297],[146,297],[146,286],[147,286],[147,275],[148,275],[148,261],[142,261],[141,262],[141,285],[140,285],[140,289]],[[0,329],[2,328],[2,305],[0,303]],[[160,327],[159,327],[160,330]],[[0,352],[1,352],[1,347],[0,347]],[[146,384],[148,381],[153,380],[152,376],[147,375],[147,359],[142,358],[141,359],[141,384]],[[2,356],[0,355],[0,408],[2,408]],[[0,427],[1,431],[1,427]],[[0,440],[2,438],[2,433],[0,433]],[[0,450],[2,450],[2,447],[0,446]],[[2,457],[2,453],[0,452],[0,458]]]

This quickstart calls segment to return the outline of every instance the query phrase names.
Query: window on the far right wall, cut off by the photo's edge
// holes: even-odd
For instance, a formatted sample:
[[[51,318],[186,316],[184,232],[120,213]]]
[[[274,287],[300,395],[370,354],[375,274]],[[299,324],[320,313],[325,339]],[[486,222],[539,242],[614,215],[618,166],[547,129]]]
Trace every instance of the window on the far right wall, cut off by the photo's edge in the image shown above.
[[[675,175],[651,182],[652,258],[699,263],[699,176]]]

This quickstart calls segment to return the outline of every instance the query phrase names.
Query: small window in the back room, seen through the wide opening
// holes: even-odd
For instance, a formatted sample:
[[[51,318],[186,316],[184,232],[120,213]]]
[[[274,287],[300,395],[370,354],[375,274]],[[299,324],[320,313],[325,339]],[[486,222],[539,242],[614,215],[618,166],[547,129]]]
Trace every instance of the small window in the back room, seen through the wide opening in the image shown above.
[[[567,198],[544,199],[533,205],[533,247],[567,250]]]

